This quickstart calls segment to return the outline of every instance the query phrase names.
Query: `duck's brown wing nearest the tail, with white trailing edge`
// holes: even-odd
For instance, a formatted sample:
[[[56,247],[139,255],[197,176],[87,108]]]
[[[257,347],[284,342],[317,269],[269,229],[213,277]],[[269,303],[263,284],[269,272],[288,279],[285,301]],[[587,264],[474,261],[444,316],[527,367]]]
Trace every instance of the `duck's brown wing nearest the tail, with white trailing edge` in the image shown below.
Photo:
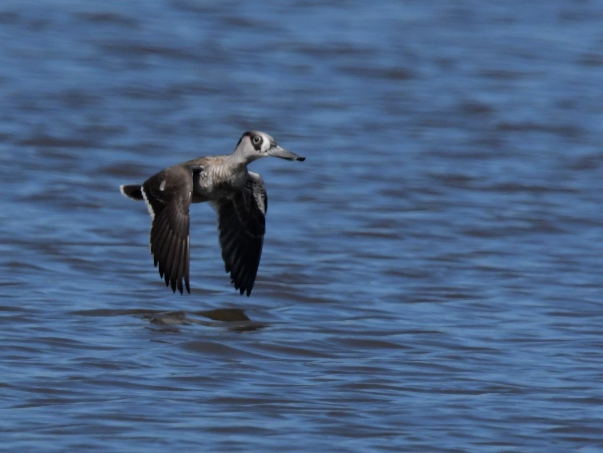
[[[166,168],[142,184],[140,192],[153,219],[151,225],[151,254],[159,275],[172,291],[183,293],[189,286],[189,206],[193,182],[192,168],[181,164]]]

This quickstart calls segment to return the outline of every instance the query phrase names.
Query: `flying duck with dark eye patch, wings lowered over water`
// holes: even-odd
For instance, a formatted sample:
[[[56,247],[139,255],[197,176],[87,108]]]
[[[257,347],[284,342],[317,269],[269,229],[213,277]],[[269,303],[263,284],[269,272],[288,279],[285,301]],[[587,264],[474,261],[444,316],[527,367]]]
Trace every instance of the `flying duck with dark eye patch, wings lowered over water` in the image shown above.
[[[119,187],[122,195],[147,205],[153,263],[172,292],[183,294],[186,288],[191,293],[189,207],[209,202],[218,214],[224,268],[241,295],[251,294],[264,245],[268,197],[262,177],[247,166],[267,156],[305,160],[268,134],[247,131],[232,154],[198,157],[167,167],[142,184]]]

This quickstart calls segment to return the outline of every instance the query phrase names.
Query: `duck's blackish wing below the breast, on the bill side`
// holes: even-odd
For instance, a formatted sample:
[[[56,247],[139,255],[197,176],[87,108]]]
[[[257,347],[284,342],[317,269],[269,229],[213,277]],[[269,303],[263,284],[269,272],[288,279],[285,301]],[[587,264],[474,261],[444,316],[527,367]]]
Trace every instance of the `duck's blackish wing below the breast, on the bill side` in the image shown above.
[[[262,256],[268,198],[259,174],[249,178],[232,198],[213,202],[226,272],[239,292],[251,294]]]

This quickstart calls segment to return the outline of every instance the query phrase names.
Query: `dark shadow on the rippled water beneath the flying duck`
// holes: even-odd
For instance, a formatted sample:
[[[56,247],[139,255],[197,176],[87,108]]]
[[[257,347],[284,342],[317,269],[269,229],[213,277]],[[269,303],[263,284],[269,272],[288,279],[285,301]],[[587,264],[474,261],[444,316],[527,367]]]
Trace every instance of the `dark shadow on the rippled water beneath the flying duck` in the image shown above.
[[[226,328],[233,332],[247,332],[263,329],[267,323],[252,321],[241,308],[216,308],[215,310],[193,311],[161,311],[133,308],[130,310],[81,310],[72,314],[80,316],[136,316],[151,324],[153,330],[158,332],[177,333],[178,326],[203,325],[209,327]]]

